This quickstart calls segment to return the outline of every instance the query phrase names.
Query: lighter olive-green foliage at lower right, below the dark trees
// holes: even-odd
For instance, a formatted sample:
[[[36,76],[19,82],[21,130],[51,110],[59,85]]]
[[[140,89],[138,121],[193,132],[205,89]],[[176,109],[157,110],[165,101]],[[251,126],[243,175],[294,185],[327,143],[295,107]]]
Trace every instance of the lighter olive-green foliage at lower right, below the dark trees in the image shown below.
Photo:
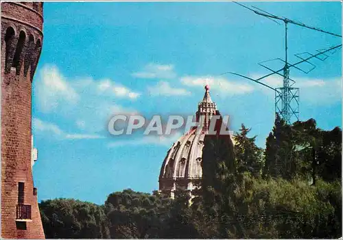
[[[204,228],[206,238],[223,234],[227,238],[338,238],[342,236],[340,188],[339,182],[318,181],[311,186],[300,179],[264,180],[246,172],[230,196],[235,214],[215,211],[209,217],[204,211],[206,222],[198,230]]]

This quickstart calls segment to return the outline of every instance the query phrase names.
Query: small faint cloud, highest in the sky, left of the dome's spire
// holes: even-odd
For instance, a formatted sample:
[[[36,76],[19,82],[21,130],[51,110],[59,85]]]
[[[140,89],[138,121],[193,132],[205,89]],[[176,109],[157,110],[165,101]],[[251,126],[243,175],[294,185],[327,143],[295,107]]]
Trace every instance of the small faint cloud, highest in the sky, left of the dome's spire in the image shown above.
[[[150,63],[143,70],[132,73],[132,76],[141,79],[172,79],[176,77],[176,73],[174,65]]]

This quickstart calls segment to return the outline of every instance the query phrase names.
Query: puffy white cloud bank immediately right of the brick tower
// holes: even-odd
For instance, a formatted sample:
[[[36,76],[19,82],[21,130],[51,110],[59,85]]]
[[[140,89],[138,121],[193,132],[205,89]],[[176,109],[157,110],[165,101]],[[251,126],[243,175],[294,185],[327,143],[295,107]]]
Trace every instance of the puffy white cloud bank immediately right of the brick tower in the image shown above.
[[[41,111],[60,109],[71,111],[76,105],[83,105],[84,98],[104,96],[136,99],[141,94],[134,92],[110,79],[95,81],[89,77],[67,79],[54,65],[45,65],[39,71],[36,84],[37,103]]]

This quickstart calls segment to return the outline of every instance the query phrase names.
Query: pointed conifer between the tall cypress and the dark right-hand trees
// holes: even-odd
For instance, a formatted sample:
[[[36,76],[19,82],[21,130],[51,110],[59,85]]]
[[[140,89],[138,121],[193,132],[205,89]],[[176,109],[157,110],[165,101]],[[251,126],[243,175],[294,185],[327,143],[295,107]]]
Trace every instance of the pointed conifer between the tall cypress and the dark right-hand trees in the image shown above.
[[[235,157],[237,170],[251,172],[253,176],[259,176],[262,168],[262,150],[255,144],[257,136],[248,137],[251,129],[241,124],[239,133],[235,135]]]

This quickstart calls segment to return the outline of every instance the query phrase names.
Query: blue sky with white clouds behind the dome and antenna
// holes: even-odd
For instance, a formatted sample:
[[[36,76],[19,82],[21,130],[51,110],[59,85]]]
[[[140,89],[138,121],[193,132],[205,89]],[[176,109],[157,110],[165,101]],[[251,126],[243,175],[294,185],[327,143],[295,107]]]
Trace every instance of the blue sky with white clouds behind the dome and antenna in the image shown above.
[[[246,3],[341,34],[339,2]],[[232,2],[45,3],[43,51],[34,76],[32,133],[38,148],[38,199],[78,198],[102,204],[113,191],[158,189],[170,137],[113,137],[116,113],[194,114],[209,79],[211,96],[231,129],[242,122],[265,138],[274,123],[274,93],[232,75],[268,73],[257,65],[283,57],[283,25]],[[340,38],[289,26],[294,53],[324,49]],[[300,119],[322,129],[342,122],[341,53],[304,75]],[[281,79],[265,83],[281,86]]]

